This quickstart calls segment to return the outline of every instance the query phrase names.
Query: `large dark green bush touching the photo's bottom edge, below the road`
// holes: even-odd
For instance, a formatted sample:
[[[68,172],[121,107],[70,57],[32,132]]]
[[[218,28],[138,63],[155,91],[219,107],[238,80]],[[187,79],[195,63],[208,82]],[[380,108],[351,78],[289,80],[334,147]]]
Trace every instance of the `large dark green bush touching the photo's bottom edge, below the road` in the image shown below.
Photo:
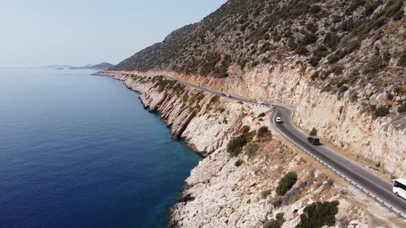
[[[323,226],[334,226],[339,201],[314,203],[303,210],[300,215],[300,223],[297,228],[321,228]]]

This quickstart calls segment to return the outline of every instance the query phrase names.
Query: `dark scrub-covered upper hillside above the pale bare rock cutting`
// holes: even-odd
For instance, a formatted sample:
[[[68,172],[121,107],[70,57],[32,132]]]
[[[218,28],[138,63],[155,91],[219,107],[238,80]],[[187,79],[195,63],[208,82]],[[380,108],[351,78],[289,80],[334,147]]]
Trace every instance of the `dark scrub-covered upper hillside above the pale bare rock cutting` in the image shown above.
[[[404,2],[230,0],[199,23],[186,25],[162,43],[111,69],[166,70],[205,77],[244,76],[261,65],[295,63],[314,69],[310,81],[330,93],[350,89],[352,100],[370,107],[360,91],[406,104]],[[399,98],[396,98],[396,97]],[[376,115],[386,115],[387,104]]]

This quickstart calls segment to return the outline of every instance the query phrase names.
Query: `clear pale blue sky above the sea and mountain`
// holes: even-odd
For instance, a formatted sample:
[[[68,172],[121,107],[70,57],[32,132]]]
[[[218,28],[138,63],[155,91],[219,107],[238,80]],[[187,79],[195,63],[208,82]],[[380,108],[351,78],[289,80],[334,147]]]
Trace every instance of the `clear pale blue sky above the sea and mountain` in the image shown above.
[[[0,0],[0,67],[117,64],[226,0]]]

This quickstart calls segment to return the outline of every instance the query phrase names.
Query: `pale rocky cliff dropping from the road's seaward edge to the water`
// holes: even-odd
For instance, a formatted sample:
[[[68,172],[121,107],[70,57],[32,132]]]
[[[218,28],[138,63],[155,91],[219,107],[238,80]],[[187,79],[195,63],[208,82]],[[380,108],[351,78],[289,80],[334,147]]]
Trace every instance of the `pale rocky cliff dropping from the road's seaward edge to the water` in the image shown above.
[[[172,209],[171,227],[263,227],[266,223],[295,227],[315,202],[331,203],[336,214],[325,225],[398,225],[391,221],[392,214],[329,177],[299,150],[271,133],[259,137],[253,130],[271,128],[268,109],[215,97],[157,76],[114,72],[114,78],[138,91],[147,109],[160,113],[171,126],[172,137],[183,138],[206,156],[186,180],[183,200]],[[262,119],[258,117],[261,113],[265,113]],[[243,132],[242,126],[250,128],[253,139],[233,157],[226,152],[227,145]],[[288,172],[295,172],[297,181],[286,193],[277,194],[277,186]]]

